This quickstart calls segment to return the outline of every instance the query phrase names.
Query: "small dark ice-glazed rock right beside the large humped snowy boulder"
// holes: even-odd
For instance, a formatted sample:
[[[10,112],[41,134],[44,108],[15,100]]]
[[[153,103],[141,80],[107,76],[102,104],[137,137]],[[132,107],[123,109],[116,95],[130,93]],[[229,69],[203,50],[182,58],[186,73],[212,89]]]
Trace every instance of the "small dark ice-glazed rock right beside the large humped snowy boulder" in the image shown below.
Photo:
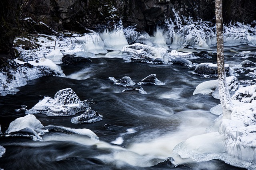
[[[80,116],[72,117],[71,122],[78,124],[78,123],[94,123],[97,121],[102,121],[102,115],[100,115],[97,111],[92,109],[87,109],[83,114]]]

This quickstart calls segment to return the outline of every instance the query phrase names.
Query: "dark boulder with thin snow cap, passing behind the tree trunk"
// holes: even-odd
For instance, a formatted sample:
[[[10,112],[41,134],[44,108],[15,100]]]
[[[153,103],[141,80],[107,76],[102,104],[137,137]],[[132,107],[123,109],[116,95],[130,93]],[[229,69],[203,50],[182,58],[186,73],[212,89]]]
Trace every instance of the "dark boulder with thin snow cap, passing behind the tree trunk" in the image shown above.
[[[225,64],[225,71],[227,76],[238,76],[238,74],[229,66],[229,64]],[[217,76],[217,64],[201,63],[195,68],[192,74],[204,77]]]

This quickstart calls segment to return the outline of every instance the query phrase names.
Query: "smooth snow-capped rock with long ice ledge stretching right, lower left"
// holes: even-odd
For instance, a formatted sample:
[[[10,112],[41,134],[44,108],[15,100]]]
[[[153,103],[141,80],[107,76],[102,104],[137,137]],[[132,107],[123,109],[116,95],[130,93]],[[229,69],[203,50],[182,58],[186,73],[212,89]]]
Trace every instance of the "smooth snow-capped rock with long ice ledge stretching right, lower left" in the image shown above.
[[[5,134],[2,136],[22,136],[30,137],[34,141],[43,141],[41,136],[49,131],[59,131],[67,134],[86,135],[94,141],[99,141],[97,135],[93,133],[90,129],[73,129],[69,127],[60,127],[53,125],[48,125],[44,127],[34,115],[26,115],[24,117],[19,117],[15,119],[10,123]]]

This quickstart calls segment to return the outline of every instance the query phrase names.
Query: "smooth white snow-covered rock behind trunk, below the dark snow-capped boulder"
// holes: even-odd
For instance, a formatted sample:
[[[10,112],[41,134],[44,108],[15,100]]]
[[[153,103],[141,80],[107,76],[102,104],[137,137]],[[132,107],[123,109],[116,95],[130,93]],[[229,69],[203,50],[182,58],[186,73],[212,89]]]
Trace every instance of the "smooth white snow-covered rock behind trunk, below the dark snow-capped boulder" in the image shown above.
[[[234,94],[236,90],[240,87],[240,83],[235,76],[230,76],[226,78],[226,82],[228,85],[228,90],[230,94]],[[202,82],[196,86],[196,89],[193,92],[195,94],[211,94],[216,99],[219,99],[219,92],[218,92],[218,80],[210,80]]]

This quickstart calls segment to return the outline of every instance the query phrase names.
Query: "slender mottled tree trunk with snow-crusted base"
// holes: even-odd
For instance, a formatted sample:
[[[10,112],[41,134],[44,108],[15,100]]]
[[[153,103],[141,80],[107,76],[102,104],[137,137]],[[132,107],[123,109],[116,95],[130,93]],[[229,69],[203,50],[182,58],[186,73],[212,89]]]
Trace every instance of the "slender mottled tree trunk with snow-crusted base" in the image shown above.
[[[231,99],[226,83],[226,72],[224,67],[224,42],[223,42],[223,20],[222,20],[222,0],[215,0],[216,33],[217,33],[217,65],[218,65],[218,88],[222,113],[225,118],[229,118]]]

